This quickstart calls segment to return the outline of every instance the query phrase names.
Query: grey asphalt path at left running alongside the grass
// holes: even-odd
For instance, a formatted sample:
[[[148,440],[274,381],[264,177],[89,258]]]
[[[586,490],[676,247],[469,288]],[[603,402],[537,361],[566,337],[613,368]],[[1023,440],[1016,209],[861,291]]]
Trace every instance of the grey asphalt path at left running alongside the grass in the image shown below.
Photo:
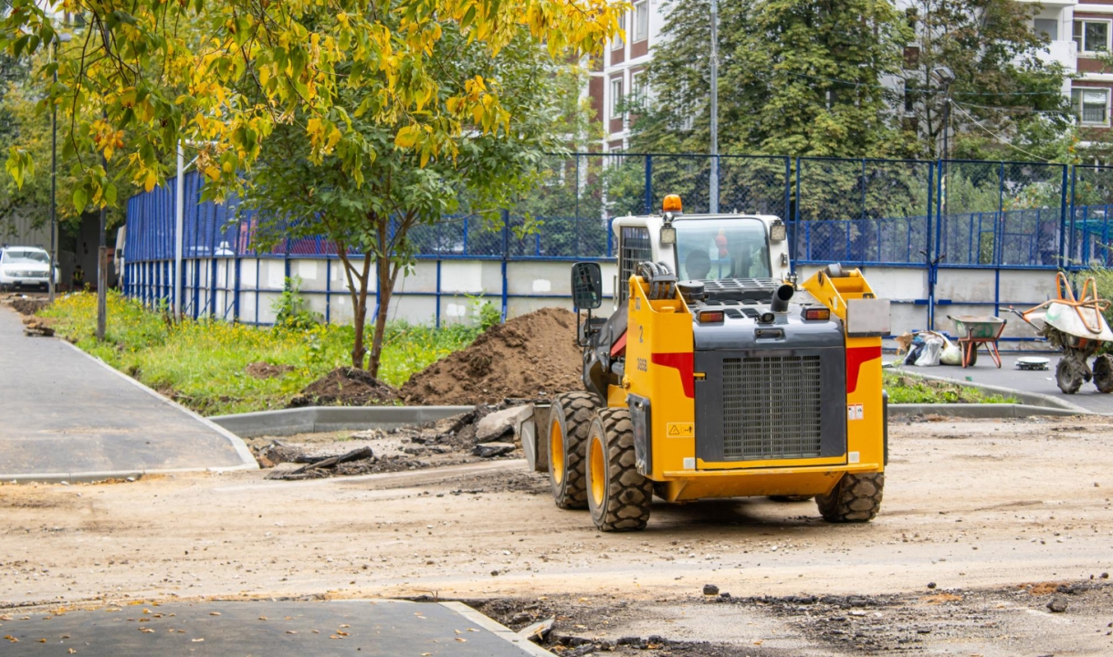
[[[0,481],[256,467],[236,436],[0,308]]]

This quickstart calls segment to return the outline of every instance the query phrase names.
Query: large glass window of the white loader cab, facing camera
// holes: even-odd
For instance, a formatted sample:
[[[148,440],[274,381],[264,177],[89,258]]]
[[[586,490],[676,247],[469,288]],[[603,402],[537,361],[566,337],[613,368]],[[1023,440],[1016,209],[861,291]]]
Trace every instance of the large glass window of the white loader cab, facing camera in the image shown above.
[[[681,280],[770,278],[769,245],[760,219],[695,219],[673,226]]]

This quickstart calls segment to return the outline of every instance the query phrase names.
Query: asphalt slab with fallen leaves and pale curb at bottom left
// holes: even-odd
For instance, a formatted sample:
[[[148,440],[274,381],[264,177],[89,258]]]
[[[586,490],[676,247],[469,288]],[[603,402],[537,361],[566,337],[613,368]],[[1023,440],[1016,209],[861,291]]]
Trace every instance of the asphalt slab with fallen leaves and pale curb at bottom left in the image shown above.
[[[171,603],[24,614],[0,628],[4,655],[86,657],[528,657],[549,653],[459,603]],[[39,643],[46,639],[46,643]],[[10,651],[9,651],[10,650]]]

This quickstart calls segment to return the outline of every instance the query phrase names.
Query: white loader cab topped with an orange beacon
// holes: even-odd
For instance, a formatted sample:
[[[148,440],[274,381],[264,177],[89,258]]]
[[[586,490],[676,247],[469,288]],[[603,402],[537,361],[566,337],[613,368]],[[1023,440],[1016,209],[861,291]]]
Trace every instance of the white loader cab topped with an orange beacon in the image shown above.
[[[787,229],[771,215],[660,215],[614,220],[618,273],[614,309],[639,262],[663,262],[680,280],[776,279],[790,273]]]

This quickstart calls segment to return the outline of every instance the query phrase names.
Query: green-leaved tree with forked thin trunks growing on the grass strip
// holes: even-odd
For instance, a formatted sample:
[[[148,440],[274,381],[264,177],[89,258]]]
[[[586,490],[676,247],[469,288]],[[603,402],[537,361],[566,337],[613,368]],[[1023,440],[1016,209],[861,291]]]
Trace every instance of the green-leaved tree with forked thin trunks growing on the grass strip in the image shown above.
[[[396,19],[384,20],[388,29],[400,29]],[[432,128],[414,128],[405,116],[388,122],[361,111],[377,102],[377,84],[343,86],[332,111],[348,117],[346,129],[375,156],[362,165],[362,180],[351,175],[341,153],[314,157],[303,126],[313,133],[316,118],[309,108],[301,108],[262,143],[260,166],[246,192],[248,207],[260,217],[260,243],[324,235],[335,245],[354,315],[352,365],[366,365],[372,375],[378,371],[394,285],[413,263],[422,230],[456,213],[499,223],[500,210],[513,207],[518,195],[534,187],[545,153],[562,150],[570,129],[563,107],[568,67],[525,29],[492,56],[463,30],[445,26],[424,57],[436,89],[423,101],[424,112],[452,115],[459,98],[490,89],[501,97],[508,121],[484,129],[482,112],[469,113],[451,142],[432,153],[415,147]],[[349,69],[339,66],[336,72],[345,76]],[[368,360],[364,331],[372,281],[378,290],[378,312]]]

